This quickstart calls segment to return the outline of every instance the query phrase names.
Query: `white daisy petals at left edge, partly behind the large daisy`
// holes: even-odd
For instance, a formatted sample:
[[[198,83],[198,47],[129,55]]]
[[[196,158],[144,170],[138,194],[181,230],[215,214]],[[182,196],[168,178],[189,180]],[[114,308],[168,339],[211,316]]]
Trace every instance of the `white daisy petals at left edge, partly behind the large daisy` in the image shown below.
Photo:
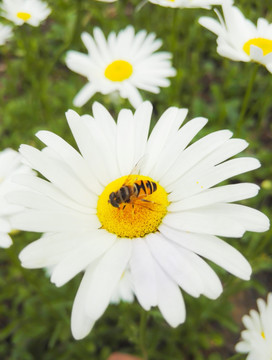
[[[22,164],[22,156],[17,151],[5,149],[0,152],[0,247],[7,248],[12,244],[8,235],[12,230],[10,216],[22,210],[21,206],[9,204],[6,200],[7,194],[18,189],[12,178],[27,173],[32,173],[32,170]]]

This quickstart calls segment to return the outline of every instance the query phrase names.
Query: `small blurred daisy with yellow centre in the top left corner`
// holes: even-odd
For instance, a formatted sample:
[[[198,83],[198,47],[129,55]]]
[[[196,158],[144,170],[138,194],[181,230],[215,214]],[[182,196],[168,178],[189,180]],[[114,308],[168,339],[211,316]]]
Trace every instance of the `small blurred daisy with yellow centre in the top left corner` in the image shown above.
[[[48,5],[40,0],[3,0],[0,9],[3,11],[2,16],[15,25],[27,23],[39,26],[51,12]]]

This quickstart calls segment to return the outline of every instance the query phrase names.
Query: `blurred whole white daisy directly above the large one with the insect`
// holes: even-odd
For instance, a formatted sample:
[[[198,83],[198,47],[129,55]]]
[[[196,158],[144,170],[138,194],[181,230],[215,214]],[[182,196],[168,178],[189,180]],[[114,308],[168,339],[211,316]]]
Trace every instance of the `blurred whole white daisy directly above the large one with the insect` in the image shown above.
[[[96,92],[110,94],[118,91],[132,106],[142,102],[138,89],[159,93],[160,87],[167,87],[169,76],[175,76],[171,67],[171,54],[156,52],[162,41],[155,34],[145,30],[134,32],[132,26],[118,34],[111,32],[108,39],[99,28],[93,37],[86,32],[81,36],[88,55],[69,51],[66,64],[69,69],[85,76],[88,83],[74,99],[75,106],[83,106]]]

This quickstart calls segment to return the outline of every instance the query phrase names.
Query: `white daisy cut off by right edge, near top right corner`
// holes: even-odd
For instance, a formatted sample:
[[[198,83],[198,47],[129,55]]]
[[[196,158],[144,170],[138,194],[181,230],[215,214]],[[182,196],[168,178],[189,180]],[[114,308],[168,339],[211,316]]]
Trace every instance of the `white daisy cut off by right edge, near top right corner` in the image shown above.
[[[222,7],[224,20],[201,17],[199,23],[215,33],[219,55],[234,61],[255,61],[272,72],[272,24],[259,18],[257,26],[231,3]]]

